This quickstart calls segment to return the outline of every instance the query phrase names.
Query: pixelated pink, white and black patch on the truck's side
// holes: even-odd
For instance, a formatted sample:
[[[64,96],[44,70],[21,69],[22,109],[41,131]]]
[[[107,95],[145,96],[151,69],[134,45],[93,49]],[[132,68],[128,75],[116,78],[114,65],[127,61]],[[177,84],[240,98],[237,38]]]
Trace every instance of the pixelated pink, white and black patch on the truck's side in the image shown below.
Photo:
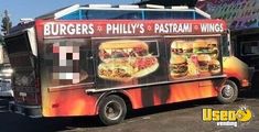
[[[78,84],[88,77],[79,68],[79,45],[72,42],[53,44],[53,80],[57,84]]]

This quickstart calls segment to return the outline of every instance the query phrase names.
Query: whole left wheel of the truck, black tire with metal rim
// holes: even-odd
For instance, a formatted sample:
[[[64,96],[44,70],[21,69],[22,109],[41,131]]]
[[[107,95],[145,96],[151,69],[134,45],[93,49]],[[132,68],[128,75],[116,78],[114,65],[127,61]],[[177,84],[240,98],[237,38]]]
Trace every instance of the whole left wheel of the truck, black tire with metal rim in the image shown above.
[[[127,113],[125,100],[116,95],[105,97],[99,103],[98,113],[105,125],[118,124],[125,120]]]

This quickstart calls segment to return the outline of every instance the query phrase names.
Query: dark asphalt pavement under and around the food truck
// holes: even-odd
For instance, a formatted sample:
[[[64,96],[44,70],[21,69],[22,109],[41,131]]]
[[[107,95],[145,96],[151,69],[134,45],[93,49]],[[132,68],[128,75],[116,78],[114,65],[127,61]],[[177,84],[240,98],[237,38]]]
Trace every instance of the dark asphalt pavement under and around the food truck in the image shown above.
[[[259,132],[259,74],[252,88],[231,105],[219,105],[215,99],[195,100],[152,107],[130,112],[120,124],[102,127],[96,117],[31,119],[8,112],[9,98],[0,98],[0,132]],[[237,127],[219,127],[204,122],[204,108],[233,110],[247,106],[252,111],[248,122]]]

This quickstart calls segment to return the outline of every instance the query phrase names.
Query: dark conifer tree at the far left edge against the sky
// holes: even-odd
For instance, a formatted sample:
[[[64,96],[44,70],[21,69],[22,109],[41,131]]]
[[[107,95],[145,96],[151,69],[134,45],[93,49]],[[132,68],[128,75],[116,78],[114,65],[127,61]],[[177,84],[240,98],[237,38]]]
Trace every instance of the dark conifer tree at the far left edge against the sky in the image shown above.
[[[3,18],[2,18],[2,25],[1,25],[1,31],[3,32],[4,35],[9,33],[11,26],[12,26],[12,22],[9,18],[8,10],[4,10]]]

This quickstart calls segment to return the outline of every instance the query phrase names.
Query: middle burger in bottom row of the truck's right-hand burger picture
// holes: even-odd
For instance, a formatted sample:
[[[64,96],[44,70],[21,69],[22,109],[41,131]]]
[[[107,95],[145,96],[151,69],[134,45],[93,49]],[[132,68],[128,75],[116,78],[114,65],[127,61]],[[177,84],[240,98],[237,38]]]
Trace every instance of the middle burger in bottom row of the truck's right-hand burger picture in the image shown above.
[[[199,74],[202,74],[202,75],[209,74],[208,65],[209,65],[211,61],[212,61],[212,58],[207,54],[197,55],[197,63],[198,63],[198,72],[199,72]]]

